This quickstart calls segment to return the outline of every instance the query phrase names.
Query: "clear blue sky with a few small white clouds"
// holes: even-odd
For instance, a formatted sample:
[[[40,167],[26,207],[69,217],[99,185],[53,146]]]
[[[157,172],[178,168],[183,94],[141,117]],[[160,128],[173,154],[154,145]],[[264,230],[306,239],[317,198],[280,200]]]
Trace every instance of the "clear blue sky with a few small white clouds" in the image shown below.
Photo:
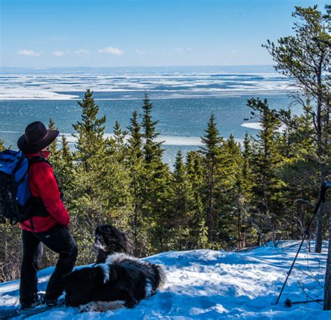
[[[0,0],[0,66],[272,64],[295,6],[324,0]]]

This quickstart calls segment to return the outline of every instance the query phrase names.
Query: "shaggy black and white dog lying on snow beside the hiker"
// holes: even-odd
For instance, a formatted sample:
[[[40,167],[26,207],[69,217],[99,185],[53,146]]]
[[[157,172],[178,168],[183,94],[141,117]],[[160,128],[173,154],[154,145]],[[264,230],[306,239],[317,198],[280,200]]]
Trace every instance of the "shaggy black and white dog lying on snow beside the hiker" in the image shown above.
[[[96,245],[101,244],[104,249],[107,243],[108,250],[120,246],[118,243],[122,241],[124,245],[120,251],[128,248],[123,238],[124,233],[117,229],[115,232],[105,233],[110,234],[111,239],[107,236],[98,237],[101,235],[98,230],[103,230],[102,227],[96,229]],[[110,230],[109,226],[105,228]],[[116,237],[119,237],[117,244]],[[165,283],[165,273],[159,265],[126,253],[112,253],[103,262],[98,261],[94,266],[69,273],[64,282],[66,305],[85,305],[83,310],[105,311],[123,305],[134,307],[140,300],[152,296]]]

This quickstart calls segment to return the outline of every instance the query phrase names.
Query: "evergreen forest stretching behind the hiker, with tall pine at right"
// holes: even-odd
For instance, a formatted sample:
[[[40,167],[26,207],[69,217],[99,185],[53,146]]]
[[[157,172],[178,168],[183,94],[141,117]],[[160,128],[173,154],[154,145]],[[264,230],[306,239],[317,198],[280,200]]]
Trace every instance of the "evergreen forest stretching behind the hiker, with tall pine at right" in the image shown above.
[[[148,93],[130,126],[116,122],[105,138],[106,119],[89,89],[73,124],[75,146],[64,136],[50,145],[50,163],[64,191],[78,265],[95,260],[94,230],[113,224],[133,243],[135,256],[197,248],[241,250],[272,241],[301,239],[318,192],[330,180],[330,6],[296,7],[293,35],[263,47],[279,73],[295,80],[290,106],[272,109],[267,99],[247,101],[256,136],[244,143],[222,137],[210,115],[200,150],[178,152],[175,167],[163,162],[158,121]],[[50,129],[57,127],[52,119]],[[8,148],[0,142],[0,150]],[[12,146],[15,149],[15,146]],[[309,233],[311,250],[328,238],[330,196]],[[0,282],[20,277],[20,228],[1,224]],[[43,267],[57,256],[45,252]]]

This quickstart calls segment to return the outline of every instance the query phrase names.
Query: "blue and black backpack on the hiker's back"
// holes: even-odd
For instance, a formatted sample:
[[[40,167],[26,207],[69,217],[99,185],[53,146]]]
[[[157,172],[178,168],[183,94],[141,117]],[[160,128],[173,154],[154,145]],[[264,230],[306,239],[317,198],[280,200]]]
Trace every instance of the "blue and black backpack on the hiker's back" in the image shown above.
[[[17,224],[30,218],[28,170],[29,161],[22,152],[0,152],[0,222],[8,219],[10,224]]]

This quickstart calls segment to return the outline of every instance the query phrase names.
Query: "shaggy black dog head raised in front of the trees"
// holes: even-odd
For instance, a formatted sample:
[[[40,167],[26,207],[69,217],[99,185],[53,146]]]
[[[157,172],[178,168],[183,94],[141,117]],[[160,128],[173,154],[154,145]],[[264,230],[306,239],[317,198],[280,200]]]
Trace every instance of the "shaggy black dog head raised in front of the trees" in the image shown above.
[[[110,224],[96,228],[94,246],[106,254],[125,252],[130,254],[132,245],[128,236]]]

